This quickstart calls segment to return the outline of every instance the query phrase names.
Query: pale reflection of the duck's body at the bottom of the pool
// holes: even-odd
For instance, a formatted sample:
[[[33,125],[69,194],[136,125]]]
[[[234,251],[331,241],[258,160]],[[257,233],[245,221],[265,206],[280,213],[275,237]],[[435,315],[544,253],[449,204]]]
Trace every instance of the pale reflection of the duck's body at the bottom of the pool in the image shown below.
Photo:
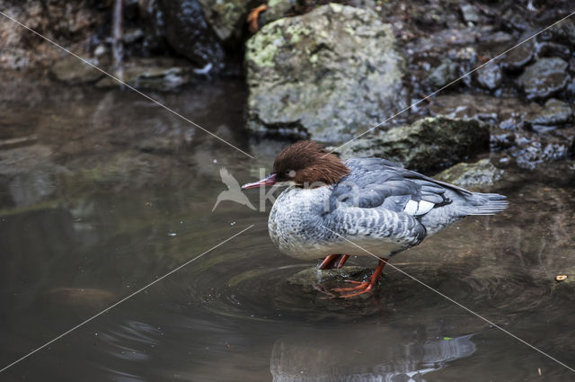
[[[423,382],[447,361],[471,356],[472,336],[406,342],[385,327],[298,333],[274,344],[270,371],[274,382]]]

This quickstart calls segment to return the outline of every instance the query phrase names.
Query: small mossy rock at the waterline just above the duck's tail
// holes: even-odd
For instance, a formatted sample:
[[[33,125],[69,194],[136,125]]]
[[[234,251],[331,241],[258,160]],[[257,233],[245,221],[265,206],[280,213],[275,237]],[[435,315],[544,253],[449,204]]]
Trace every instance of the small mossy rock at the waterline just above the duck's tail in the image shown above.
[[[501,179],[503,173],[505,172],[491,164],[489,159],[482,159],[472,164],[456,164],[438,173],[434,178],[466,189],[473,189],[492,186]]]

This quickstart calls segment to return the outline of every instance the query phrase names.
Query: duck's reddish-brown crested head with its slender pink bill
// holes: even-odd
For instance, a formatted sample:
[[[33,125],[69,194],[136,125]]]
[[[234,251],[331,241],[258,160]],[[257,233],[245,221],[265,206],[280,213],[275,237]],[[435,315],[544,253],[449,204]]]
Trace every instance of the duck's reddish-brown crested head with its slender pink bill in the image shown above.
[[[340,158],[315,142],[300,140],[276,156],[270,176],[260,182],[244,184],[242,189],[276,183],[315,188],[340,182],[348,173],[349,168]]]

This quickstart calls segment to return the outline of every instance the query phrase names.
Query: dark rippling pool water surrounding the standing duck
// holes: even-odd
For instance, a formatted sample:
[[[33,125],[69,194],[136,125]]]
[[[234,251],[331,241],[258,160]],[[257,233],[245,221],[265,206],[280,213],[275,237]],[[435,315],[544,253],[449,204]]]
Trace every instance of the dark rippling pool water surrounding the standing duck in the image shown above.
[[[315,264],[275,249],[266,213],[230,201],[211,212],[226,190],[220,166],[251,182],[286,144],[246,138],[240,83],[153,95],[255,160],[133,93],[5,89],[0,138],[23,140],[0,151],[0,367],[254,227],[0,380],[573,379],[391,267],[368,298],[329,299],[288,282]],[[492,190],[509,195],[508,210],[467,218],[393,263],[574,366],[573,287],[553,280],[575,279],[570,165],[509,169]],[[257,206],[257,191],[249,196]]]

